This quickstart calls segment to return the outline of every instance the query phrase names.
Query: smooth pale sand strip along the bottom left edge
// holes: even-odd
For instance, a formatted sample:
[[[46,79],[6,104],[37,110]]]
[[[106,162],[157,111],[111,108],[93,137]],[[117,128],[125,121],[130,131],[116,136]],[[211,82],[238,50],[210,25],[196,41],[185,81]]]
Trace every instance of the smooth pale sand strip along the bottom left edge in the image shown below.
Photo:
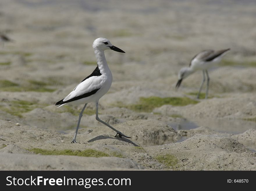
[[[1,170],[138,170],[141,165],[127,158],[40,156],[0,153]]]

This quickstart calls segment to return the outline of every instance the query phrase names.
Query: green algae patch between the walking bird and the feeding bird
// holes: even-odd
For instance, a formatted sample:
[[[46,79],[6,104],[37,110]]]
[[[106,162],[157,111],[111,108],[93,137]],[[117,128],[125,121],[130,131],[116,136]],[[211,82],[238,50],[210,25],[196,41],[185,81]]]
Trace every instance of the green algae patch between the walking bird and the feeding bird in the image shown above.
[[[163,105],[173,105],[173,106],[186,106],[189,104],[196,104],[198,101],[190,99],[188,97],[141,97],[137,104],[123,105],[118,102],[115,106],[125,107],[137,112],[152,112],[154,108]]]

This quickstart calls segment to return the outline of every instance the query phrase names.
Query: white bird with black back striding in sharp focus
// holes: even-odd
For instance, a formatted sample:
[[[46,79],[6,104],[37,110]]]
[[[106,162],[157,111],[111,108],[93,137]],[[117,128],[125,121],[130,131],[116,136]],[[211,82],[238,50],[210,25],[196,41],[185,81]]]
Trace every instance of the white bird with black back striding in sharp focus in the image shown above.
[[[118,47],[113,46],[111,42],[109,42],[109,40],[106,38],[97,38],[93,42],[93,49],[94,49],[95,56],[97,58],[96,69],[93,71],[92,74],[90,74],[85,79],[83,79],[83,81],[81,81],[77,85],[77,87],[72,92],[70,92],[70,94],[67,95],[67,97],[65,97],[61,101],[58,101],[55,105],[60,105],[58,107],[61,107],[66,105],[67,103],[72,105],[85,104],[83,106],[83,109],[81,110],[81,113],[79,114],[77,129],[76,129],[72,143],[76,142],[77,132],[78,132],[79,124],[81,121],[81,117],[83,116],[83,111],[85,110],[87,103],[90,103],[90,102],[96,103],[96,120],[97,121],[103,123],[104,125],[114,130],[117,133],[115,137],[119,135],[120,138],[122,138],[122,136],[126,138],[130,138],[124,135],[123,133],[121,133],[120,131],[116,130],[106,122],[102,121],[98,117],[99,99],[104,94],[106,94],[106,92],[109,91],[109,88],[112,84],[112,73],[106,62],[104,50],[111,49],[117,52],[122,52],[122,53],[125,53],[125,52],[119,49]]]

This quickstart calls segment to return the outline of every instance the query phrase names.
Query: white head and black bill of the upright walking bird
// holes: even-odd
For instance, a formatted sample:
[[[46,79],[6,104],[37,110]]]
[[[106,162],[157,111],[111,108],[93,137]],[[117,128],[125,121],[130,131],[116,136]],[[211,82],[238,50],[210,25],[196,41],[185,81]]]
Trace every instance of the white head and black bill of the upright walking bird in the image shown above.
[[[111,49],[111,50],[114,50],[114,51],[117,51],[117,52],[125,53],[125,51],[121,50],[120,48],[113,46],[108,39],[102,38],[102,37],[97,38],[93,42],[93,48],[98,49],[98,50],[103,50],[103,51]]]

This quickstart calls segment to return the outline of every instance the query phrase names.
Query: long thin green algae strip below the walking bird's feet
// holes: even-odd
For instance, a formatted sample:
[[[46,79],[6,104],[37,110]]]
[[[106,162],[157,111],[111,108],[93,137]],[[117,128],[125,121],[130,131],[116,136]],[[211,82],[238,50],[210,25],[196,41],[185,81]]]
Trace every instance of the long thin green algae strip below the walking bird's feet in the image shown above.
[[[42,154],[42,155],[70,155],[70,156],[86,156],[86,157],[104,157],[109,156],[107,153],[102,151],[96,151],[94,149],[86,149],[83,151],[72,151],[70,149],[65,150],[46,150],[46,149],[27,149],[35,154]]]

